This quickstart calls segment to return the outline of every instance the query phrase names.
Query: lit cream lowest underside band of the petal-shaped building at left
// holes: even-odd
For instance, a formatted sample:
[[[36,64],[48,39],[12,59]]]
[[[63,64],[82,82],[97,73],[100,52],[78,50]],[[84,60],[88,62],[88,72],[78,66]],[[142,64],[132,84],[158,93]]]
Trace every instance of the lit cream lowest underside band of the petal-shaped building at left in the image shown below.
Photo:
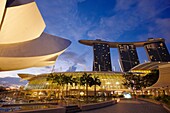
[[[46,60],[56,56],[56,54],[38,56],[38,57],[0,57],[0,62],[1,62],[0,71],[18,70],[18,69],[24,69],[29,67],[42,67],[42,66],[52,65],[51,61],[46,61]]]

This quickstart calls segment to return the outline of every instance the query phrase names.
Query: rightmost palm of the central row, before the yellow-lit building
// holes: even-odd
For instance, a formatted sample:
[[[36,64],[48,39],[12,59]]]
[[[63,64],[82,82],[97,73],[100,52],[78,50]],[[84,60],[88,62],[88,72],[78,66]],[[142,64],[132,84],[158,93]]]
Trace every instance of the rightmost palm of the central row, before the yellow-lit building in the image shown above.
[[[94,78],[92,79],[92,81],[90,82],[89,86],[93,86],[94,85],[94,97],[96,99],[96,86],[100,86],[101,85],[101,81],[99,79],[98,76],[94,76]]]

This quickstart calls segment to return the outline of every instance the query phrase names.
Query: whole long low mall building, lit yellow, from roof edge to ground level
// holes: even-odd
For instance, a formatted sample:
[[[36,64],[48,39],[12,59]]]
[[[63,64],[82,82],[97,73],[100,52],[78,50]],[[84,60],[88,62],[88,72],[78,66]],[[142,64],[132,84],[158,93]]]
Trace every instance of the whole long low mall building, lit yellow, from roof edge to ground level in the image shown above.
[[[97,95],[110,96],[113,94],[122,94],[122,92],[130,92],[130,89],[125,88],[122,85],[124,78],[122,72],[94,72],[89,71],[87,74],[91,74],[93,76],[98,76],[101,85],[97,86]],[[64,74],[66,76],[73,76],[73,78],[81,77],[84,72],[62,72],[55,74]],[[29,75],[29,74],[19,74],[19,76],[23,80],[28,80],[28,84],[25,86],[24,91],[26,94],[30,94],[31,96],[37,95],[49,95],[51,92],[58,95],[61,93],[61,86],[58,86],[57,83],[51,84],[51,81],[47,81],[47,77],[49,74],[41,74],[41,75]],[[94,86],[89,87],[89,95],[94,95]],[[85,95],[85,86],[68,85],[69,95]],[[66,85],[63,88],[64,95],[66,93]],[[60,94],[61,95],[61,94]]]

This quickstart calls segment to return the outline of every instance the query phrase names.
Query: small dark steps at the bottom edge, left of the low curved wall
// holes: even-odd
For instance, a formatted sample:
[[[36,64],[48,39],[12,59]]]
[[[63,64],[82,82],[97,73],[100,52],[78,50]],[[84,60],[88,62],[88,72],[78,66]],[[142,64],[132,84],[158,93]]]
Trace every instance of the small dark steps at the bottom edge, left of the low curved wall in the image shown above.
[[[76,113],[80,111],[81,109],[78,107],[78,105],[66,106],[66,113]]]

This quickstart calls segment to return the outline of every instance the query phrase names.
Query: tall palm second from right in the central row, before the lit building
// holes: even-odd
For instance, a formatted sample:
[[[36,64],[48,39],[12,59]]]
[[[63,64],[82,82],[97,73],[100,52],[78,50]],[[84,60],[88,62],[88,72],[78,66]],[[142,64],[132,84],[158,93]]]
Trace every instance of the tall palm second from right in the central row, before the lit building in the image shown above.
[[[93,80],[93,78],[91,77],[91,74],[84,73],[80,77],[80,85],[86,86],[86,99],[87,99],[87,101],[88,101],[88,86],[89,86],[89,83],[92,80]]]

